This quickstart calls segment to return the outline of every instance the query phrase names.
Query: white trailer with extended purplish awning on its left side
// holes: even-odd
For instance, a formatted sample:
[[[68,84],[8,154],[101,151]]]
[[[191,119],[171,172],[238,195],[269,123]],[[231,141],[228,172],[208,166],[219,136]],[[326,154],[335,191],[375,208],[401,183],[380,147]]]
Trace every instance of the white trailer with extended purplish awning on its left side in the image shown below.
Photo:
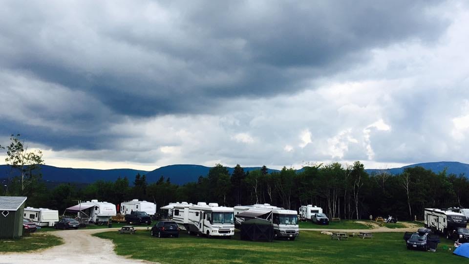
[[[110,202],[91,200],[80,202],[77,205],[65,209],[68,212],[76,212],[82,222],[104,223],[116,216],[116,206]]]

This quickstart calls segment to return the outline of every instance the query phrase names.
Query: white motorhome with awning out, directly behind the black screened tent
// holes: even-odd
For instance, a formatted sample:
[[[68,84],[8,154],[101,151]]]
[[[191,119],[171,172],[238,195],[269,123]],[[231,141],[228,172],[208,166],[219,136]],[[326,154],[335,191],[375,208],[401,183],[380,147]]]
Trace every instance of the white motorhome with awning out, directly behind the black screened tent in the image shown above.
[[[269,220],[274,226],[277,238],[295,240],[299,235],[298,212],[285,210],[268,203],[235,206],[236,224],[249,219]]]

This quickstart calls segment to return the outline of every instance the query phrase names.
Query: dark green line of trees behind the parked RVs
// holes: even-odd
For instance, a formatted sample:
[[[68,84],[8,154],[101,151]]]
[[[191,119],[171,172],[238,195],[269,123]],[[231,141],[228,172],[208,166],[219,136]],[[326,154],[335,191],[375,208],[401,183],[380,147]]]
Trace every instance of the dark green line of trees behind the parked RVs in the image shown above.
[[[8,150],[19,154],[24,148],[12,140]],[[22,145],[21,145],[22,146]],[[15,160],[8,155],[9,160]],[[42,155],[31,155],[43,162]],[[17,159],[19,160],[19,159]],[[360,161],[344,166],[340,163],[314,164],[301,170],[283,167],[269,173],[266,166],[245,172],[238,164],[232,174],[220,164],[208,175],[184,185],[171,183],[161,176],[148,183],[145,175],[137,174],[132,182],[127,177],[115,181],[98,180],[82,186],[64,183],[47,188],[41,181],[39,166],[11,163],[13,177],[7,195],[27,196],[28,206],[58,209],[77,204],[78,200],[98,199],[119,204],[130,199],[148,200],[164,206],[169,202],[217,202],[224,206],[270,203],[298,210],[301,205],[322,207],[333,218],[368,219],[392,215],[399,219],[423,218],[424,208],[469,206],[469,180],[464,175],[434,173],[422,167],[405,168],[399,175],[385,170],[369,175]],[[15,174],[16,173],[16,174]]]

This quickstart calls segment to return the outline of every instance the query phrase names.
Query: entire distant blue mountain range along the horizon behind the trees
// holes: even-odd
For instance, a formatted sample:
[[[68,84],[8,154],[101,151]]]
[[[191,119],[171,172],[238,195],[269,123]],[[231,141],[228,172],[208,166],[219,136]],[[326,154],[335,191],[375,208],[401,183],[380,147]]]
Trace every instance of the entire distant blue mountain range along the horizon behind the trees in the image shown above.
[[[378,173],[381,171],[390,174],[400,174],[407,167],[421,166],[427,170],[439,173],[447,168],[448,174],[465,174],[469,176],[469,164],[460,162],[428,162],[404,166],[402,168],[392,168],[385,170],[367,169],[369,174]],[[244,168],[245,172],[260,170],[261,167],[248,167]],[[182,185],[187,182],[197,181],[199,176],[207,176],[210,167],[202,165],[170,165],[158,168],[151,172],[132,169],[112,169],[112,170],[96,170],[96,169],[73,169],[73,168],[59,168],[48,165],[42,166],[43,180],[49,182],[77,182],[77,183],[91,183],[97,180],[110,180],[114,181],[118,177],[127,177],[129,182],[133,182],[135,175],[147,176],[147,182],[156,182],[161,176],[165,179],[170,178],[172,183]],[[234,168],[228,168],[230,174],[233,173]],[[0,165],[0,178],[7,178],[10,167],[7,165]],[[300,171],[300,170],[298,170]],[[269,169],[269,173],[278,172],[278,170]]]

